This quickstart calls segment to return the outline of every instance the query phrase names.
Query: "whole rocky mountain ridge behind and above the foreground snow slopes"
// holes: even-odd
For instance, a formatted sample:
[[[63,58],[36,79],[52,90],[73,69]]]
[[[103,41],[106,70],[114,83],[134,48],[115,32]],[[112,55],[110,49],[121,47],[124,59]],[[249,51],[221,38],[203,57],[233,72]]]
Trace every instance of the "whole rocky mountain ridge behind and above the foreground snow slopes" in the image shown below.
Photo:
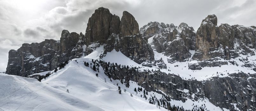
[[[166,100],[184,103],[206,98],[222,109],[255,110],[255,35],[253,26],[217,26],[214,14],[203,19],[197,31],[186,23],[158,22],[149,22],[139,30],[129,12],[124,11],[120,20],[100,7],[89,18],[85,35],[63,30],[60,41],[46,39],[10,50],[6,73],[28,76],[54,70],[76,58],[113,62],[118,58],[114,55],[119,55],[135,62],[136,67],[128,62],[121,65],[133,69],[123,69],[113,62],[114,69],[109,70],[109,65],[99,64],[113,80],[138,82],[149,91],[161,89],[170,96],[164,97]],[[144,70],[137,71],[137,66]]]

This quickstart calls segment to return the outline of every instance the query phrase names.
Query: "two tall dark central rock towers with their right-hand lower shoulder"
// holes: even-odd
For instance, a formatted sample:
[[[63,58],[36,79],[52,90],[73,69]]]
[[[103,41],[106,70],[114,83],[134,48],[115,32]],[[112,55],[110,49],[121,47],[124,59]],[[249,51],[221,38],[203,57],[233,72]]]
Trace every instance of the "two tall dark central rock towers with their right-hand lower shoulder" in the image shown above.
[[[119,16],[112,15],[106,8],[95,10],[85,35],[87,45],[97,41],[99,45],[104,45],[104,54],[115,49],[140,64],[154,61],[152,49],[139,34],[137,21],[127,11],[123,12],[120,21]]]

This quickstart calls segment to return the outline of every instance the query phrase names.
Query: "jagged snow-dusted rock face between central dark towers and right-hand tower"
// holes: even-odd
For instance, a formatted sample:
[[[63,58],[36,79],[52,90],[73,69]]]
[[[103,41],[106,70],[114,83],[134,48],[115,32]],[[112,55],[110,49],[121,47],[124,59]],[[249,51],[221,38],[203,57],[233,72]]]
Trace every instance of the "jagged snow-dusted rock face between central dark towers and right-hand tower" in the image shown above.
[[[148,39],[152,49],[168,56],[168,62],[188,61],[189,50],[195,49],[195,33],[192,27],[181,23],[174,24],[150,22],[140,29],[143,38]]]

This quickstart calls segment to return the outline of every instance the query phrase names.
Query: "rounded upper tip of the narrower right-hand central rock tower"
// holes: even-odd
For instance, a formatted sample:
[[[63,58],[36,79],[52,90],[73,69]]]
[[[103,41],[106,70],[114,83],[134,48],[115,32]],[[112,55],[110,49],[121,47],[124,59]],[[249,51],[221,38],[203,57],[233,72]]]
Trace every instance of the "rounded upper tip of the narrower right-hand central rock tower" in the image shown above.
[[[131,36],[139,33],[139,24],[134,16],[127,11],[123,11],[121,23],[119,26],[120,36]]]

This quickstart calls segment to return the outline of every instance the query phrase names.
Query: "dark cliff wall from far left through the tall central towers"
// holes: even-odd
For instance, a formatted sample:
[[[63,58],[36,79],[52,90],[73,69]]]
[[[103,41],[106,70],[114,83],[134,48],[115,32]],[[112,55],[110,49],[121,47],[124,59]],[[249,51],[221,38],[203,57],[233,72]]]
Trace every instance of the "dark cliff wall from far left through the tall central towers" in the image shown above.
[[[139,64],[153,65],[149,64],[154,61],[153,50],[139,33],[134,16],[124,11],[120,21],[119,16],[100,7],[89,18],[85,35],[63,30],[59,41],[25,43],[18,50],[10,50],[6,73],[27,76],[53,70],[60,63],[86,56],[100,46],[104,46],[102,56],[115,49]]]

